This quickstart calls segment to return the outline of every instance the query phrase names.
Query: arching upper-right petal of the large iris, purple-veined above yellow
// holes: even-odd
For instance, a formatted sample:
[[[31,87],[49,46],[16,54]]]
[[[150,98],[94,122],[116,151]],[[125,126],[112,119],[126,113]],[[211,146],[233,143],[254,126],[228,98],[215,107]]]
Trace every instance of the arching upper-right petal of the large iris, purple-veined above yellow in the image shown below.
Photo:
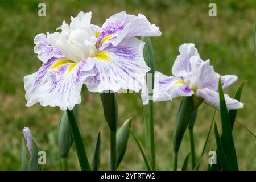
[[[148,22],[144,15],[134,16],[122,11],[111,16],[102,25],[98,35],[98,48],[104,49],[110,43],[117,46],[125,37],[160,35],[159,28]]]

